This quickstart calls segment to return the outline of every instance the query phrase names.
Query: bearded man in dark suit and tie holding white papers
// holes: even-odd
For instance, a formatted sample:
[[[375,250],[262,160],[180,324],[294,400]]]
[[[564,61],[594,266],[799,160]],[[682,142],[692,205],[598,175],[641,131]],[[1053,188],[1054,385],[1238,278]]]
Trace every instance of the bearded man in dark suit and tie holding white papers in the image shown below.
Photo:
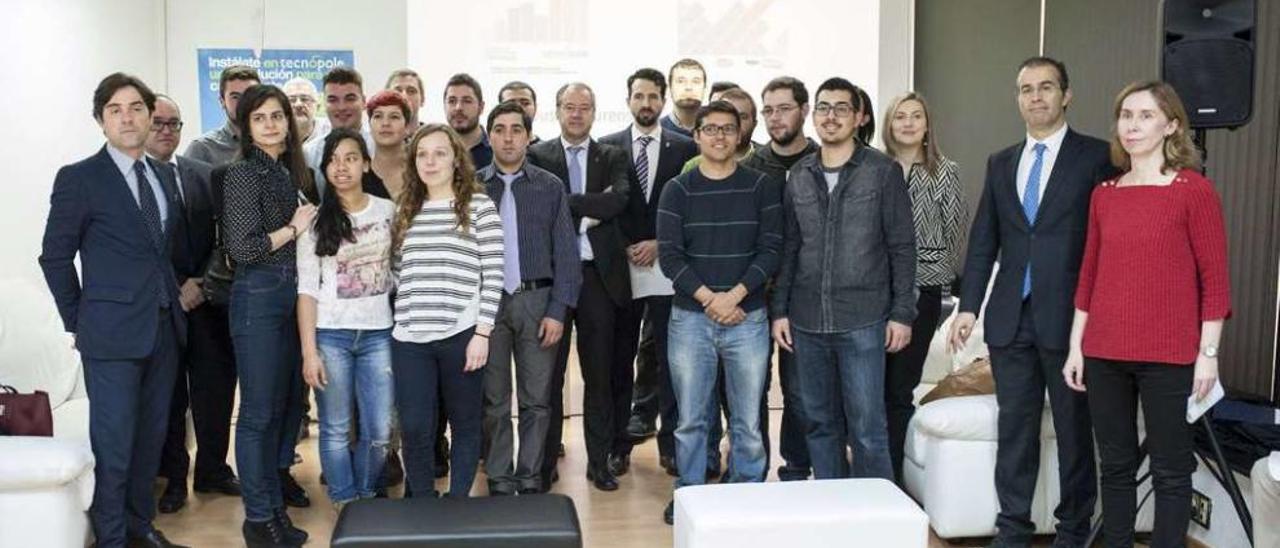
[[[652,68],[636,70],[627,78],[627,109],[631,127],[600,138],[627,152],[631,178],[631,200],[626,222],[627,261],[631,271],[634,311],[628,316],[626,337],[618,341],[626,356],[640,355],[636,361],[632,399],[617,402],[614,412],[628,416],[622,430],[614,433],[614,474],[631,465],[632,442],[653,435],[654,421],[662,416],[658,431],[658,457],[668,472],[676,471],[676,397],[667,374],[667,321],[671,318],[671,282],[658,268],[658,197],[662,188],[689,159],[698,155],[698,145],[689,137],[662,128],[658,115],[666,105],[667,78]],[[644,341],[640,341],[640,319],[644,318]],[[639,352],[637,352],[639,351]],[[630,359],[628,359],[630,361]],[[621,406],[621,403],[627,403]]]

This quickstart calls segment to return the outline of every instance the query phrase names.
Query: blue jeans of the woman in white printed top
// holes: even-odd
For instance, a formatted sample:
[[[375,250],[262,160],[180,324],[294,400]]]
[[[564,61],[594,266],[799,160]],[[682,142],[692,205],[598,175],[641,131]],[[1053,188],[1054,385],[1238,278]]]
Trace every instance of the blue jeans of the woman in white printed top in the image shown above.
[[[372,498],[392,435],[392,330],[316,329],[316,346],[329,382],[315,392],[329,499]],[[360,438],[352,447],[357,408]]]

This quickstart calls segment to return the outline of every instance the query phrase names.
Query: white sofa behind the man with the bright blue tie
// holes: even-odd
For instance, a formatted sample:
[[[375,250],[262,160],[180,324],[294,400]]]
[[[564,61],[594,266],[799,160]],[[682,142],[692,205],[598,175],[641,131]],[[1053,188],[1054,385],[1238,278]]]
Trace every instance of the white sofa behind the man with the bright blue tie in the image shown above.
[[[946,351],[946,335],[952,314],[934,333],[919,398],[946,374],[977,357],[987,356],[979,320],[966,348],[957,355]],[[902,481],[929,516],[929,525],[941,538],[991,536],[996,534],[996,419],[995,396],[964,396],[929,402],[916,410],[908,426],[902,460]],[[1139,428],[1139,431],[1140,428]],[[1149,481],[1139,487],[1139,496]],[[1053,533],[1059,502],[1057,438],[1047,398],[1041,421],[1041,461],[1032,521],[1039,534]],[[1138,530],[1149,531],[1153,503],[1138,512]]]

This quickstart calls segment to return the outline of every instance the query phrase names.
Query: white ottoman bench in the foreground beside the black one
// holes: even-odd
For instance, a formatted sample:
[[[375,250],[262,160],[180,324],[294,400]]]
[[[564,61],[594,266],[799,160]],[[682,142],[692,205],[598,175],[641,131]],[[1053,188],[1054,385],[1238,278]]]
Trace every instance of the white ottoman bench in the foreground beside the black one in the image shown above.
[[[845,479],[676,490],[676,548],[923,548],[929,519],[892,481]]]

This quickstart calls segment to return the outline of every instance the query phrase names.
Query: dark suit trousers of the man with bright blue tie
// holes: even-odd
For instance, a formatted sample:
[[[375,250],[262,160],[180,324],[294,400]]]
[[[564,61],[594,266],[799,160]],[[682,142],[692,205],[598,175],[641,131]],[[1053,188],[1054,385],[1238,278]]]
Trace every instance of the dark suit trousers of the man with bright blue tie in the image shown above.
[[[1029,543],[1032,497],[1039,470],[1041,415],[1048,391],[1053,430],[1057,433],[1060,539],[1079,545],[1089,534],[1097,501],[1093,465],[1093,430],[1083,393],[1066,387],[1062,364],[1066,350],[1044,348],[1036,342],[1033,300],[1023,301],[1018,333],[1005,347],[991,347],[991,371],[996,380],[998,443],[996,448],[996,497],[1000,539]]]

